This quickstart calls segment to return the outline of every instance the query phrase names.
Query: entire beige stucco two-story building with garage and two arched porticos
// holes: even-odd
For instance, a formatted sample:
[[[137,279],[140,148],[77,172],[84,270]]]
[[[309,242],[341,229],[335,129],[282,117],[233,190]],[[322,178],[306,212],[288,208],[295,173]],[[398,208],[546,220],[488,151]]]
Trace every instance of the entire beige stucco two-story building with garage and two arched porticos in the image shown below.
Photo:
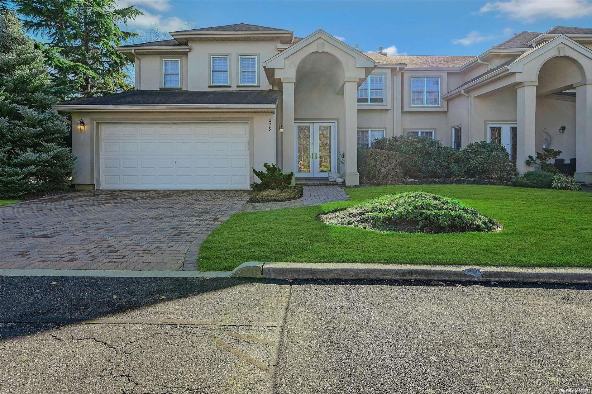
[[[79,188],[247,189],[265,162],[358,185],[358,147],[396,135],[497,141],[521,173],[545,137],[592,183],[592,28],[523,31],[479,56],[363,53],[242,23],[170,34],[118,48],[135,91],[54,106],[72,112]]]

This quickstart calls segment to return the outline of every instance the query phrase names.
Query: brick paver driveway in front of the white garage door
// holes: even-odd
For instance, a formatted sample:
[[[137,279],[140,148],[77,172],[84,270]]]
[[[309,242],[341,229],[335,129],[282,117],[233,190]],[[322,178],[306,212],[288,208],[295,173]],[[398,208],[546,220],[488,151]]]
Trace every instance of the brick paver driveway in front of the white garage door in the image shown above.
[[[240,190],[95,190],[4,206],[0,267],[196,269],[201,241]]]

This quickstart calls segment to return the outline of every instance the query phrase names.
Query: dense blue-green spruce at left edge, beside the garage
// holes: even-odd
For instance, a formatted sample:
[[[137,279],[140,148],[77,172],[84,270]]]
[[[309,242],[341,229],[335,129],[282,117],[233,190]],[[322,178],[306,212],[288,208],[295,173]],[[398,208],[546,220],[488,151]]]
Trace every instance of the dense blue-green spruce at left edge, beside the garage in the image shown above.
[[[69,134],[52,76],[40,49],[20,21],[0,11],[0,194],[2,198],[63,188],[74,158],[63,146]]]

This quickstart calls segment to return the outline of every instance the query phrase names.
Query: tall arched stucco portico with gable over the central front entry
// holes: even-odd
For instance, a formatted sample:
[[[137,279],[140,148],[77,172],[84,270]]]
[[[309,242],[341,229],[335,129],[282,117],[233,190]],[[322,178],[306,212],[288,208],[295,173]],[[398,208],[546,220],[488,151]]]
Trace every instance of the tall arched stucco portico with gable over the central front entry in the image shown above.
[[[313,121],[319,124],[334,122],[337,138],[332,154],[337,156],[339,152],[345,153],[346,184],[358,185],[356,92],[374,69],[374,60],[332,35],[317,30],[269,59],[264,67],[268,77],[272,76],[283,91],[284,172],[299,171],[298,121],[310,121],[309,124]],[[318,135],[314,135],[315,126],[308,127],[308,132],[313,133],[310,138],[316,138],[314,143],[322,144],[322,141],[318,141]],[[307,133],[306,128],[302,131]],[[303,144],[302,140],[300,144]],[[318,164],[319,153],[317,147],[313,164]],[[335,160],[331,168],[334,172],[343,172],[339,160]]]

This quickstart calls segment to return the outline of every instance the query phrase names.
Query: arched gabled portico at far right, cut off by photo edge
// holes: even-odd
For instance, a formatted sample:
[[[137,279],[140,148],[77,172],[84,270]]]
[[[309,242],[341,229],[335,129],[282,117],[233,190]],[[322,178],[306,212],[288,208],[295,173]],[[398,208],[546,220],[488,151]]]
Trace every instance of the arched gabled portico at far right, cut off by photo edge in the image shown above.
[[[516,165],[530,170],[525,160],[536,144],[537,97],[575,89],[575,179],[592,183],[592,51],[565,36],[523,54],[510,67],[516,72]]]

